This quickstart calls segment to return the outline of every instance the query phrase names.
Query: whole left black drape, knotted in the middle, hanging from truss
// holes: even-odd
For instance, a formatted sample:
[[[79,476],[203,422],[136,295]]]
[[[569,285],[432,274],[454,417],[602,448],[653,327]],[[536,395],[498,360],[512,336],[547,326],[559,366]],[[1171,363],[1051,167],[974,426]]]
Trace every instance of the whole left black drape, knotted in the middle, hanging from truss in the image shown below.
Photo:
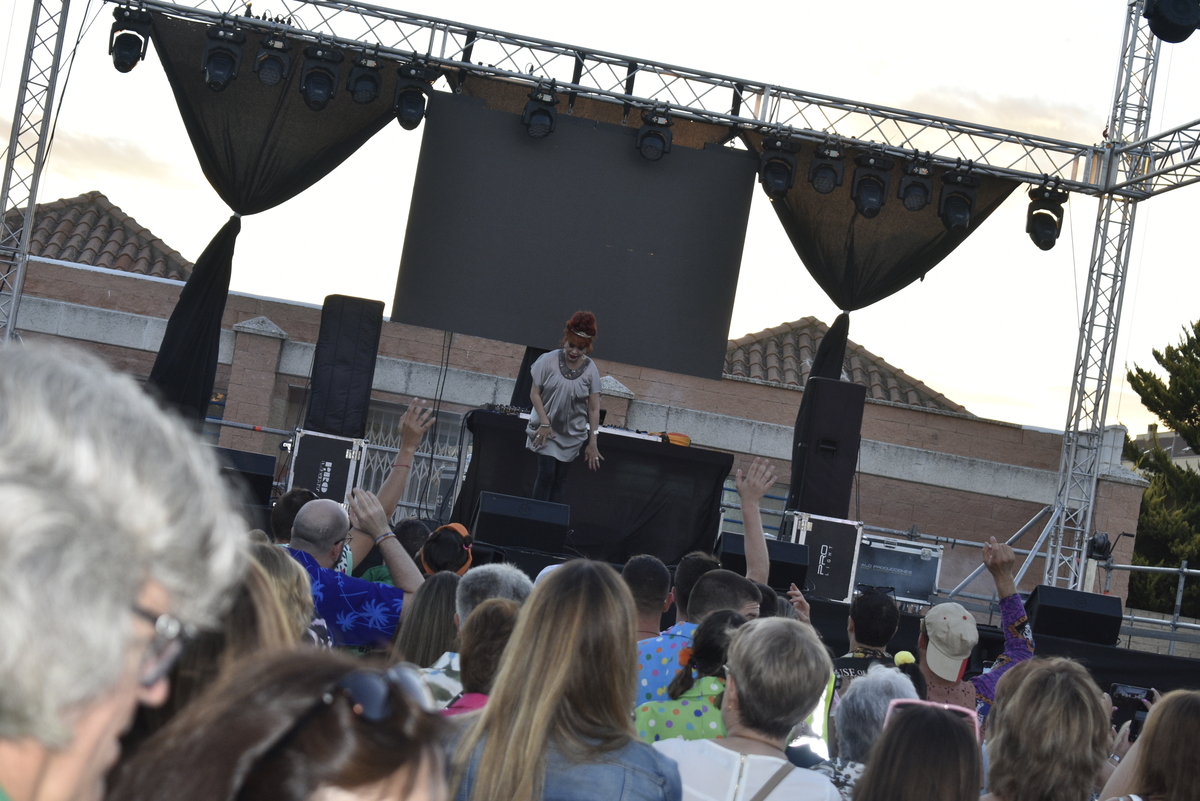
[[[167,325],[150,383],[185,416],[204,420],[216,377],[221,317],[229,291],[238,217],[265,211],[328,175],[391,119],[396,70],[383,68],[383,89],[371,103],[346,90],[352,56],[337,73],[337,91],[322,112],[300,94],[305,54],[293,43],[289,68],[274,85],[254,73],[262,37],[247,32],[238,77],[222,91],[205,84],[209,25],[155,14],[155,50],[170,82],[187,135],[205,177],[235,212],[205,248]],[[330,200],[334,201],[332,199]]]

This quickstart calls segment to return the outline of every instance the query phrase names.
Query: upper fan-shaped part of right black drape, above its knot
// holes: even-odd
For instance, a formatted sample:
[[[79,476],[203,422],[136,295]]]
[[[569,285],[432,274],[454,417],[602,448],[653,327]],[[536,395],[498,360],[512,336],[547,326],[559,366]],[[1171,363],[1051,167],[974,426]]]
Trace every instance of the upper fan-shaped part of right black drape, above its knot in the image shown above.
[[[754,143],[758,147],[757,143]],[[758,147],[761,149],[761,147]],[[854,207],[851,189],[854,181],[854,156],[845,158],[842,185],[821,194],[808,180],[812,150],[804,149],[797,158],[796,183],[781,200],[772,200],[792,247],[805,269],[838,308],[852,312],[893,295],[923,277],[977,229],[1004,198],[1016,188],[1016,181],[979,175],[982,183],[971,213],[971,225],[962,234],[952,234],[937,216],[944,169],[934,170],[934,191],[920,211],[908,211],[896,197],[904,174],[896,159],[890,171],[887,201],[876,217],[868,219]]]

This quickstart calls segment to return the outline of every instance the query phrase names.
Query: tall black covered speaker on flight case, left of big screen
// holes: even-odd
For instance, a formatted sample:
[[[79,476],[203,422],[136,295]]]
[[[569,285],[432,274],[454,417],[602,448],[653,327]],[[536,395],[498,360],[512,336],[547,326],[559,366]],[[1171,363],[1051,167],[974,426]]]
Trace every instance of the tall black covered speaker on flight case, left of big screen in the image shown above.
[[[312,357],[305,430],[361,439],[367,430],[383,302],[329,295]]]

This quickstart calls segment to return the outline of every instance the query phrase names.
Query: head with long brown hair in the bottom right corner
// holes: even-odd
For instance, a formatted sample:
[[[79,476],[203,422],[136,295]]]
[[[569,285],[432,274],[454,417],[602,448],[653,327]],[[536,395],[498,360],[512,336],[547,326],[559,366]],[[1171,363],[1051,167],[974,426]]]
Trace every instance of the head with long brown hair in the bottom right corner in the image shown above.
[[[1150,710],[1141,736],[1121,760],[1100,797],[1200,801],[1196,742],[1200,742],[1200,692],[1166,693]]]

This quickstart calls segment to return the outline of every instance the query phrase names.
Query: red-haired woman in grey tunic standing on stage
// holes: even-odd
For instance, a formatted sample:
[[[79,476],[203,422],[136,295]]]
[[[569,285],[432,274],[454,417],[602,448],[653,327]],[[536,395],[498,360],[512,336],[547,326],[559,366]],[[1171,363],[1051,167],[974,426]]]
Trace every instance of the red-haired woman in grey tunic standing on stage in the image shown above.
[[[563,502],[566,470],[583,448],[588,469],[599,470],[604,457],[596,447],[600,433],[600,371],[588,359],[596,336],[592,312],[576,312],[566,321],[562,348],[533,363],[533,389],[526,447],[538,454],[536,500]],[[584,442],[587,444],[584,446]]]

